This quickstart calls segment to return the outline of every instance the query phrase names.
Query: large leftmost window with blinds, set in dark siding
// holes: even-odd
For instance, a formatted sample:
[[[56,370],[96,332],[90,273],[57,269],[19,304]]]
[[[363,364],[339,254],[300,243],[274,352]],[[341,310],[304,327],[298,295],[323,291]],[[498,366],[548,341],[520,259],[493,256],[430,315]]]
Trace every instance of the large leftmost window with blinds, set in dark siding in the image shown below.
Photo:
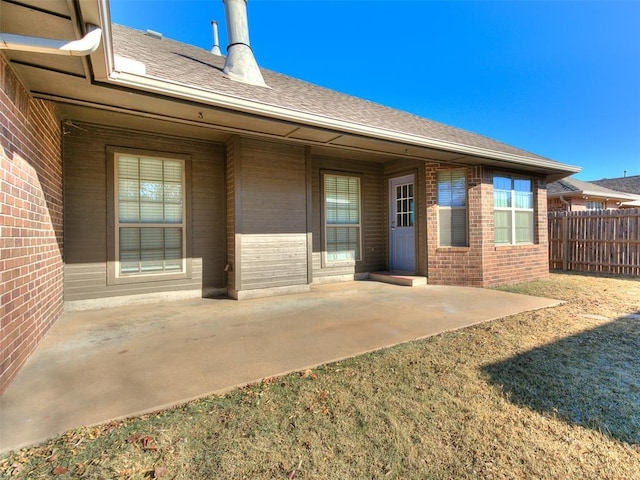
[[[115,276],[186,271],[185,161],[114,155]]]

